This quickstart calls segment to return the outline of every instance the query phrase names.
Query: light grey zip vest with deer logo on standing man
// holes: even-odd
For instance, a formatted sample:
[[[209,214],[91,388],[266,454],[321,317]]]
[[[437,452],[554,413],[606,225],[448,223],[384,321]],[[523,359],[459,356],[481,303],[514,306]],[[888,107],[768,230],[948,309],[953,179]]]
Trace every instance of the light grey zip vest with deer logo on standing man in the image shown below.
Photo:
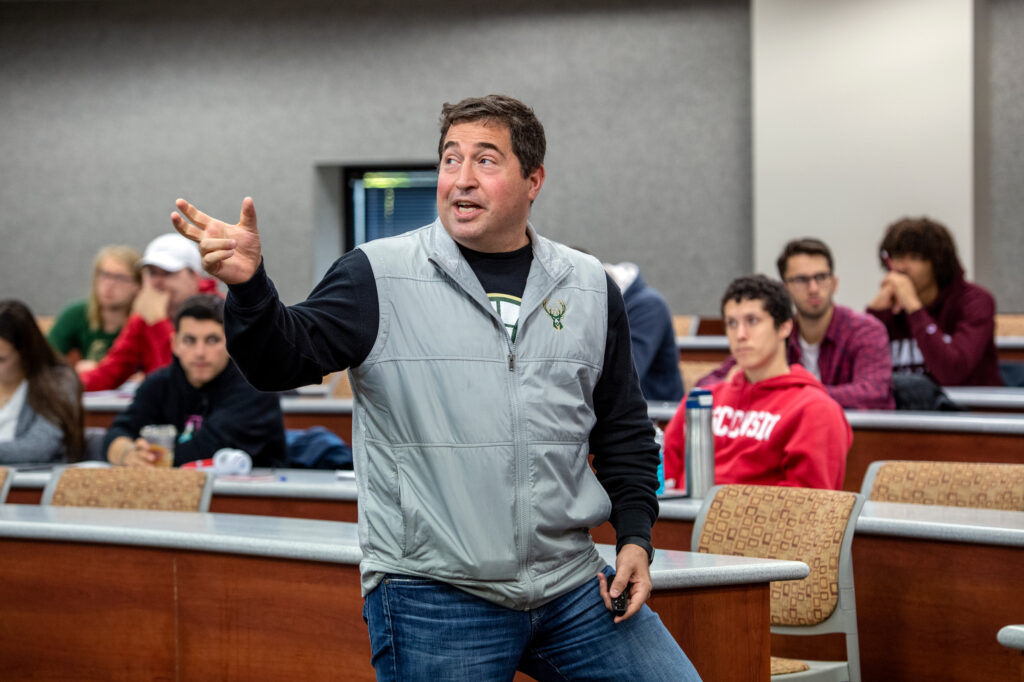
[[[594,258],[527,227],[513,344],[439,221],[360,247],[380,301],[351,369],[364,594],[431,578],[528,609],[603,565],[611,504],[588,464],[607,287]]]

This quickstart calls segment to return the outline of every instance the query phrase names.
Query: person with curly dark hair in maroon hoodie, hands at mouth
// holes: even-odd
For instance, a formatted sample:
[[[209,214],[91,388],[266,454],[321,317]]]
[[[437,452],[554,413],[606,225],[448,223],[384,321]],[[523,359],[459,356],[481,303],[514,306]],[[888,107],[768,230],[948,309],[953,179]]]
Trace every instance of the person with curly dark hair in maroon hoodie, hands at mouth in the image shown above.
[[[893,371],[941,386],[1001,386],[995,299],[964,279],[949,230],[929,218],[898,220],[879,259],[887,273],[867,311],[889,332]]]

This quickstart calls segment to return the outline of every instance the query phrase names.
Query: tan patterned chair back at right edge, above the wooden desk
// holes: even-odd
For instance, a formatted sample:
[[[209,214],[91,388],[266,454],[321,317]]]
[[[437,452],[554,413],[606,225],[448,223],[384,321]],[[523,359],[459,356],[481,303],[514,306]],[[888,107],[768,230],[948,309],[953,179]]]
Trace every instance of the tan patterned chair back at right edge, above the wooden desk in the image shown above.
[[[877,502],[1024,511],[1024,464],[873,462],[861,492]]]

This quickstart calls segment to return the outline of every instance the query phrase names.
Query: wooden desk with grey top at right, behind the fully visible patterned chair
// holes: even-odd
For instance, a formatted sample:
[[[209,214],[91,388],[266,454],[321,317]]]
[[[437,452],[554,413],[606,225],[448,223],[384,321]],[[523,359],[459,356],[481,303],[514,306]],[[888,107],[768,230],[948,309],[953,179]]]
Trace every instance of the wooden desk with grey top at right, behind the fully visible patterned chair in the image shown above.
[[[688,549],[699,506],[663,501],[654,546]],[[868,502],[853,561],[865,681],[1021,682],[1020,653],[995,633],[1024,613],[1024,512]],[[845,655],[834,635],[773,635],[771,646],[775,655]]]

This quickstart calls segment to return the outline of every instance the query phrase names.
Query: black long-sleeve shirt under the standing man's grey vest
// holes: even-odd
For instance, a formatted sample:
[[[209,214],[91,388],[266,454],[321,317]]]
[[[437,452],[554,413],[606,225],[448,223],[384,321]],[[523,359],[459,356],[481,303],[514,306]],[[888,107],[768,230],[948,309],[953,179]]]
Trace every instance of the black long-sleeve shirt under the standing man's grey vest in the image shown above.
[[[529,246],[509,254],[461,250],[484,291],[521,296]],[[373,269],[362,251],[350,251],[305,301],[286,306],[261,265],[249,282],[229,287],[224,317],[228,351],[254,386],[285,390],[318,383],[327,374],[357,367],[373,348],[379,324]],[[590,450],[611,500],[617,544],[650,551],[658,449],[633,365],[626,307],[610,279],[607,330]]]

